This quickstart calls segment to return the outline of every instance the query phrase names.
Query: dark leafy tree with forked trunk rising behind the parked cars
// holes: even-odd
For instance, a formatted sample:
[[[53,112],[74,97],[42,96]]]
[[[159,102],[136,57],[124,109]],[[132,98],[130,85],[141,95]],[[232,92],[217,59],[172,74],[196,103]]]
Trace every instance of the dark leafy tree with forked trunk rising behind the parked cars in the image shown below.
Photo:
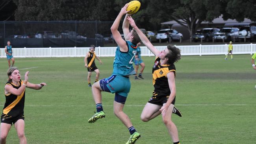
[[[201,22],[219,17],[225,7],[222,0],[150,0],[147,13],[150,22],[175,20],[192,35]]]

